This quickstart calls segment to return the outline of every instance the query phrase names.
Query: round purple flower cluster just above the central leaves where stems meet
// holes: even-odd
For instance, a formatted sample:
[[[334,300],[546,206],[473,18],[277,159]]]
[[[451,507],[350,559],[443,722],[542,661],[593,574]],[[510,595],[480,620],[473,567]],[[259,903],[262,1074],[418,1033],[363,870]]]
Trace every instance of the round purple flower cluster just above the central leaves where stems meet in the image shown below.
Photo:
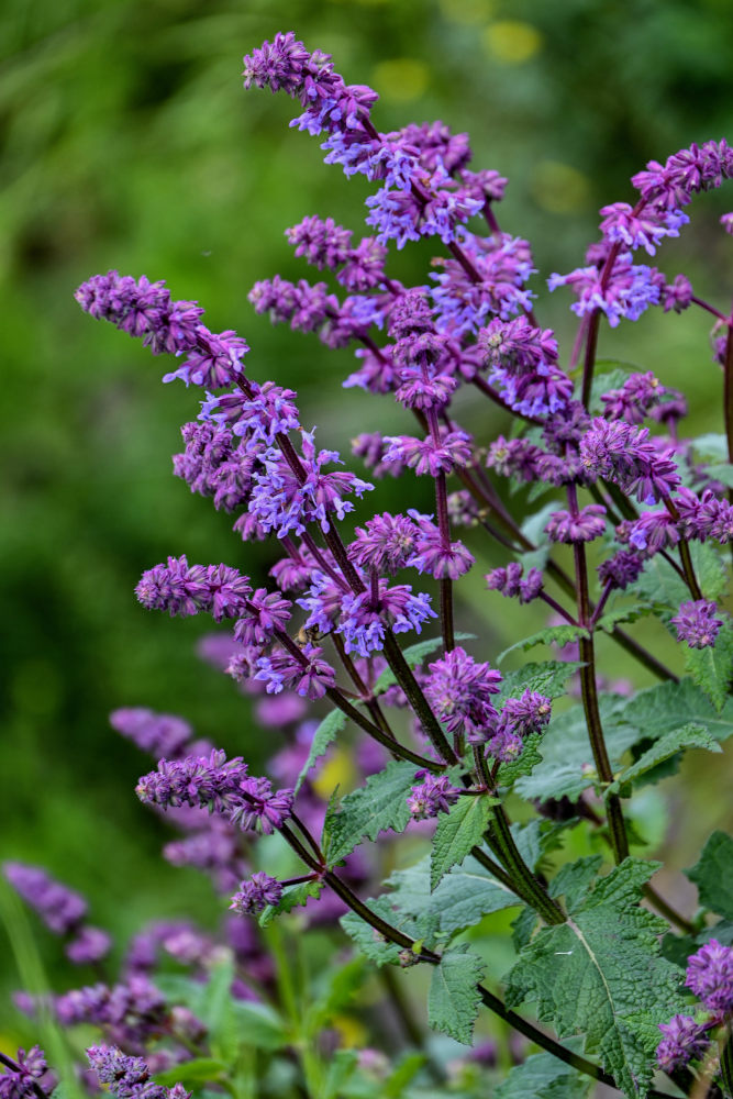
[[[496,726],[498,713],[491,696],[499,692],[501,675],[478,664],[460,646],[430,665],[425,697],[449,733],[466,733],[469,743],[482,743]]]

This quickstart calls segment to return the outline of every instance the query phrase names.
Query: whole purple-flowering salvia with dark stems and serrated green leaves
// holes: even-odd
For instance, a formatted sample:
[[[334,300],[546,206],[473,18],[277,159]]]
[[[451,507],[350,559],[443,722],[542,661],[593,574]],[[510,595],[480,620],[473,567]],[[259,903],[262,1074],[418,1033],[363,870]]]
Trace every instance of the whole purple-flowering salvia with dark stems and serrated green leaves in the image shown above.
[[[229,912],[219,933],[147,925],[111,977],[110,939],[86,902],[8,864],[86,974],[19,1004],[48,1013],[75,1048],[95,1034],[79,1078],[119,1099],[580,1097],[599,1081],[634,1097],[731,1096],[733,839],[707,841],[687,872],[700,907],[679,912],[651,884],[660,864],[630,855],[645,844],[624,803],[686,750],[721,752],[733,733],[733,319],[645,262],[680,234],[698,193],[733,176],[733,149],[709,141],[652,160],[631,202],[601,210],[582,265],[547,280],[578,320],[563,352],[535,315],[530,245],[497,219],[507,180],[471,170],[466,134],[441,122],[380,133],[376,92],[346,85],[292,33],[245,57],[244,78],[297,100],[291,125],[375,185],[369,235],[318,217],[287,230],[323,280],[276,275],[249,300],[326,347],[354,346],[345,385],[397,401],[403,433],[359,435],[351,471],[301,423],[287,378],[256,380],[245,340],[210,331],[197,302],[114,270],[79,287],[85,312],[174,357],[164,381],[198,387],[174,471],[233,514],[243,541],[273,548],[268,577],[168,557],[143,573],[137,599],[225,623],[202,656],[287,740],[265,777],[182,718],[116,710],[113,728],[156,761],[136,793],[178,830],[165,857],[208,873]],[[423,285],[403,286],[390,247],[423,237],[438,255]],[[686,400],[663,370],[596,370],[602,325],[689,308],[713,318],[722,368],[723,431],[699,440],[684,435]],[[502,410],[504,435],[457,422],[466,387]],[[401,479],[401,511],[364,510],[378,498],[364,467]],[[413,477],[432,482],[430,514],[407,507]],[[515,518],[536,500],[529,521]],[[544,603],[547,629],[512,647],[551,645],[553,658],[500,671],[500,655],[457,632],[454,589],[486,537],[506,559],[486,576],[487,608]],[[677,643],[670,667],[626,629],[642,615]],[[656,685],[601,675],[601,635],[609,664],[615,644]],[[349,761],[345,793],[329,781],[334,752]],[[578,835],[595,854],[568,854]],[[513,963],[486,979],[480,924],[503,909]],[[320,961],[304,973],[309,943]],[[430,979],[399,972],[412,967]],[[344,1032],[355,998],[362,1039]],[[501,1042],[481,1022],[471,1048],[484,1013],[502,1021]],[[426,1036],[424,1015],[454,1041]],[[37,1046],[2,1064],[3,1099],[54,1088]]]

